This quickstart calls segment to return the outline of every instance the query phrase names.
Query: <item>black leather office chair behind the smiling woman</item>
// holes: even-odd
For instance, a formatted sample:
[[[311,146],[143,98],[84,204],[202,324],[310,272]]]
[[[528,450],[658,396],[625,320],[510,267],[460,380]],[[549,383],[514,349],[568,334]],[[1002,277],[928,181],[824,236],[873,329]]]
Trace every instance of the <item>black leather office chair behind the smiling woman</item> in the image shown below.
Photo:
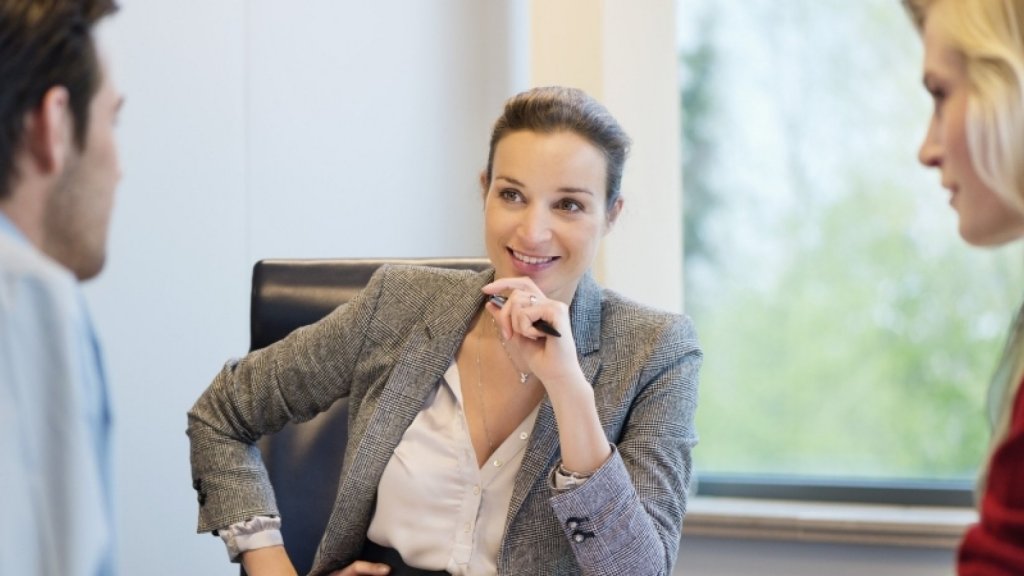
[[[250,349],[284,338],[350,300],[385,263],[481,271],[481,258],[272,259],[253,268]],[[259,442],[282,516],[282,535],[299,574],[312,568],[331,516],[348,439],[348,403]],[[242,572],[245,574],[245,571]]]

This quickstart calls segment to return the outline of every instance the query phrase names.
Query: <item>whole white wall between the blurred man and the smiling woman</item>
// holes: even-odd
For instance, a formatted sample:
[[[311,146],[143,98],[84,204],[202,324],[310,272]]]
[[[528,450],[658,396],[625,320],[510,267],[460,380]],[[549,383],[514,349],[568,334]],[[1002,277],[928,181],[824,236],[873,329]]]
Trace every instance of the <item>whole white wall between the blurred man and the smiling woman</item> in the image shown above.
[[[117,413],[124,574],[237,574],[196,536],[185,411],[248,346],[261,257],[482,254],[507,2],[123,0],[111,258],[87,286]]]

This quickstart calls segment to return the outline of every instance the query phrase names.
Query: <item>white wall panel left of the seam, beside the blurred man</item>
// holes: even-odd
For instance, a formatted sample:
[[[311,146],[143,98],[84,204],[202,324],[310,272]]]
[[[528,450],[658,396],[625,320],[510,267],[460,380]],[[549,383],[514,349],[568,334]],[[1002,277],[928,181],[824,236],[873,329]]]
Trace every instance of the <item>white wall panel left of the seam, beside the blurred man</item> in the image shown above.
[[[103,31],[125,178],[87,295],[113,387],[124,574],[237,574],[194,535],[184,413],[246,345],[244,4],[129,0]]]

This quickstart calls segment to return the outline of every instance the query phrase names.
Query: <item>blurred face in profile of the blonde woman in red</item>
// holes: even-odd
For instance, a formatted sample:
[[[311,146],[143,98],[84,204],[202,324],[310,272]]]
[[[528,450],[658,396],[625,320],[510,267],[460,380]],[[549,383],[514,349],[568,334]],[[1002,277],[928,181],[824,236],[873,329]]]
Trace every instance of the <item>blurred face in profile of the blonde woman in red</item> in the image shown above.
[[[933,18],[925,22],[925,87],[935,110],[919,158],[938,169],[949,204],[959,217],[959,234],[976,246],[994,246],[1024,235],[1024,214],[1013,209],[978,175],[967,143],[970,85],[963,54]],[[1021,151],[1024,154],[1024,151]]]

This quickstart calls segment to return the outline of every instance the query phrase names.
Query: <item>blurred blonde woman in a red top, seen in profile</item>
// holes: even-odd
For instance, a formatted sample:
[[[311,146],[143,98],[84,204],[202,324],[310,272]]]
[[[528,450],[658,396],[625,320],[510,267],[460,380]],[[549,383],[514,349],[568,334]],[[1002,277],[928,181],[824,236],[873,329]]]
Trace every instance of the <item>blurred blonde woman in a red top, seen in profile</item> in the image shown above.
[[[935,109],[920,160],[937,169],[974,246],[1024,237],[1024,0],[904,0]],[[992,444],[962,575],[1024,574],[1024,311],[992,380]]]

